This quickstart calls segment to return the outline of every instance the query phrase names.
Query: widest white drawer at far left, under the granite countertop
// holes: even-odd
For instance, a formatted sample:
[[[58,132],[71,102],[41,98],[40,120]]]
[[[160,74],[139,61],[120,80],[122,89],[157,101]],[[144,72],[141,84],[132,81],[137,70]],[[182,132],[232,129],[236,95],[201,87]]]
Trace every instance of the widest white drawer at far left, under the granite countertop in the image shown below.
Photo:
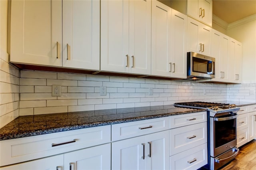
[[[1,140],[0,166],[110,142],[111,125]]]

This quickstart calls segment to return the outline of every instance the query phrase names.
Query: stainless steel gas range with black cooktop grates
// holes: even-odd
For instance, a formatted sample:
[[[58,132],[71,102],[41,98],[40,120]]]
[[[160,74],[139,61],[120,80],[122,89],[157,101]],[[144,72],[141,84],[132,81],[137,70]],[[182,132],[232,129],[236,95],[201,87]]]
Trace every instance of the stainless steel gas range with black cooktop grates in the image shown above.
[[[216,170],[239,152],[236,148],[236,118],[240,109],[233,104],[185,102],[174,103],[176,107],[186,107],[207,110],[208,128],[208,165],[210,170]]]

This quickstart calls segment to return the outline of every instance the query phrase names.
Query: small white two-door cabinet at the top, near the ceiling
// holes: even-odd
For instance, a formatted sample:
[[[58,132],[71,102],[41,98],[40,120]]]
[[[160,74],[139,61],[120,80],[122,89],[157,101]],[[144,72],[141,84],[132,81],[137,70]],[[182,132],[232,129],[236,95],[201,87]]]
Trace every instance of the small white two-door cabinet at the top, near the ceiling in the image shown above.
[[[212,0],[187,0],[187,14],[212,26]]]

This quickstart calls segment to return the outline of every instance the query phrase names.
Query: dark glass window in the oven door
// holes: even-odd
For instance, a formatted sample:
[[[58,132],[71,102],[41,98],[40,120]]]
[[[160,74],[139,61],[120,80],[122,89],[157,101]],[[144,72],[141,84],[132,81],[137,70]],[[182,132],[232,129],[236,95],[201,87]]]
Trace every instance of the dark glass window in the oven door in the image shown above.
[[[215,122],[215,148],[236,139],[236,119]]]

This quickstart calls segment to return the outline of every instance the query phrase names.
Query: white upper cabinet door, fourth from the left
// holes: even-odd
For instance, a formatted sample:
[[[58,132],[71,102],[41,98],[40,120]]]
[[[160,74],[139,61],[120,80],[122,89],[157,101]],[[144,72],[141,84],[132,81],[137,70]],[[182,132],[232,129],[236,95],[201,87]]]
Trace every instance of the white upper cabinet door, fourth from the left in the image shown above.
[[[129,1],[129,60],[130,73],[150,75],[151,0]]]

